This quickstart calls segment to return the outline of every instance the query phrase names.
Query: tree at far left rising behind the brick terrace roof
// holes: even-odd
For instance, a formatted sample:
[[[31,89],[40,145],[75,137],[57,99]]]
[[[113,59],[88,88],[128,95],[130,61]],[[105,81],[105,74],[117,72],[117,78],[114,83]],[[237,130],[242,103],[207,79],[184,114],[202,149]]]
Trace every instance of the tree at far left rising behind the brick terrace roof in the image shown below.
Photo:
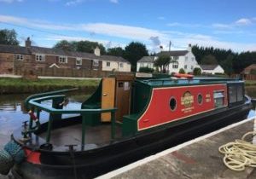
[[[0,44],[19,45],[19,41],[17,40],[17,33],[15,30],[0,30]]]

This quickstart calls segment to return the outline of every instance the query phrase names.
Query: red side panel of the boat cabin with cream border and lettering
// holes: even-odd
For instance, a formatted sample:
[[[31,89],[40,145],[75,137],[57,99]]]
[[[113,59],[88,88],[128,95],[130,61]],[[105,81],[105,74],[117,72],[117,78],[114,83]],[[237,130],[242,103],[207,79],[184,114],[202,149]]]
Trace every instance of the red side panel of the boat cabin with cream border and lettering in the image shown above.
[[[227,106],[226,84],[155,88],[148,108],[137,121],[138,130],[211,111],[216,108],[213,94],[218,91],[224,95],[223,106]]]

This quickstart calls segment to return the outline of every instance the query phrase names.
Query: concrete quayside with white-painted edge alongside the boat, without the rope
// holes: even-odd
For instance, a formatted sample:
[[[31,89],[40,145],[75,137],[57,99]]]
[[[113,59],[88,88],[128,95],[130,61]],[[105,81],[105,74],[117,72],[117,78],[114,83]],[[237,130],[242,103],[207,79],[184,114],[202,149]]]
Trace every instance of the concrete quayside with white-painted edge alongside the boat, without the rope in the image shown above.
[[[218,153],[218,147],[241,139],[241,136],[252,130],[253,118],[250,118],[98,178],[254,179],[255,168],[246,167],[243,171],[230,170],[223,163],[224,155]]]

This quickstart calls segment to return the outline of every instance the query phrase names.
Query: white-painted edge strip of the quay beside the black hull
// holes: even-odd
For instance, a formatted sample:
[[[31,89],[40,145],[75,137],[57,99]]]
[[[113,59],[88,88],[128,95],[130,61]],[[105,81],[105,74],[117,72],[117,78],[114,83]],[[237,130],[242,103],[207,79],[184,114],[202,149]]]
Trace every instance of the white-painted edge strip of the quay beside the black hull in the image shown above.
[[[150,161],[152,161],[154,159],[158,159],[158,158],[160,158],[162,156],[165,156],[168,153],[172,153],[172,152],[177,151],[177,150],[179,150],[179,149],[181,149],[183,147],[187,147],[187,146],[189,146],[189,145],[191,145],[191,144],[193,144],[193,143],[195,143],[197,141],[201,141],[201,140],[206,139],[206,138],[208,138],[210,136],[217,135],[218,133],[221,133],[221,132],[223,132],[225,130],[230,130],[231,128],[234,128],[234,127],[236,127],[238,125],[245,124],[248,121],[253,120],[254,118],[255,117],[253,116],[252,118],[244,119],[244,120],[242,120],[242,121],[240,121],[238,123],[230,124],[229,126],[226,126],[226,127],[222,128],[220,130],[216,130],[216,131],[214,131],[214,132],[212,132],[210,134],[207,134],[205,136],[200,136],[200,137],[195,138],[195,139],[193,139],[191,141],[184,142],[184,143],[182,143],[182,144],[180,144],[180,145],[178,145],[176,147],[172,147],[172,148],[166,149],[166,150],[164,150],[164,151],[162,151],[160,153],[156,153],[154,155],[151,155],[151,156],[149,156],[149,157],[147,157],[145,159],[138,160],[137,162],[134,162],[134,163],[132,163],[130,165],[126,165],[126,166],[124,166],[122,168],[119,168],[117,170],[110,171],[110,172],[108,172],[105,175],[96,177],[96,179],[105,179],[105,178],[112,178],[114,176],[119,176],[120,174],[125,173],[128,170],[132,170],[132,169],[136,168],[137,166],[147,164],[148,162],[150,162]]]

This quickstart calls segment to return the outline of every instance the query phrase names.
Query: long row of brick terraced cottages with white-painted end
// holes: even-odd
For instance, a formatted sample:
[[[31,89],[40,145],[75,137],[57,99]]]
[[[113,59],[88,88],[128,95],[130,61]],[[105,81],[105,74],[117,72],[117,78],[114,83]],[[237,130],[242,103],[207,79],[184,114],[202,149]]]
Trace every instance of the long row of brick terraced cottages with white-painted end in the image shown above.
[[[94,54],[66,51],[31,45],[0,45],[0,73],[15,73],[16,68],[68,68],[94,71],[131,72],[131,64],[122,57],[101,55],[97,47]]]

